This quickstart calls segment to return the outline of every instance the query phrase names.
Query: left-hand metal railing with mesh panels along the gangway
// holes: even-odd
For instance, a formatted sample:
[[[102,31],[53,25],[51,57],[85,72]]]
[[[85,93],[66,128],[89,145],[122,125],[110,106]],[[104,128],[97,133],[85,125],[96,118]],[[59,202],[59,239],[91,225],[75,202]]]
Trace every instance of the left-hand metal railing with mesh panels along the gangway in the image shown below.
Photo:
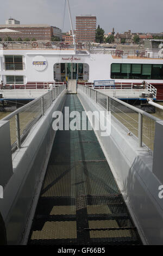
[[[21,148],[21,144],[24,138],[27,137],[29,131],[37,121],[45,115],[45,112],[52,105],[53,101],[56,100],[64,90],[66,90],[64,84],[51,89],[49,92],[1,119],[1,121],[10,121],[12,153],[14,153],[17,148]]]

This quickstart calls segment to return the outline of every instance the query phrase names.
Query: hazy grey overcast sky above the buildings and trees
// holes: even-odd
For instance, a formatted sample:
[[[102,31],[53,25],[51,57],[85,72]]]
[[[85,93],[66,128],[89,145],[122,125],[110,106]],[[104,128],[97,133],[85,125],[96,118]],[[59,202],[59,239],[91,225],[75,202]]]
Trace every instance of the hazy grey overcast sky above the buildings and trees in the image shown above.
[[[75,17],[92,14],[97,17],[105,33],[111,32],[163,32],[163,0],[69,0],[73,26]],[[65,0],[1,0],[0,23],[14,17],[22,24],[46,23],[63,28]],[[70,20],[66,5],[63,31],[69,31]]]

